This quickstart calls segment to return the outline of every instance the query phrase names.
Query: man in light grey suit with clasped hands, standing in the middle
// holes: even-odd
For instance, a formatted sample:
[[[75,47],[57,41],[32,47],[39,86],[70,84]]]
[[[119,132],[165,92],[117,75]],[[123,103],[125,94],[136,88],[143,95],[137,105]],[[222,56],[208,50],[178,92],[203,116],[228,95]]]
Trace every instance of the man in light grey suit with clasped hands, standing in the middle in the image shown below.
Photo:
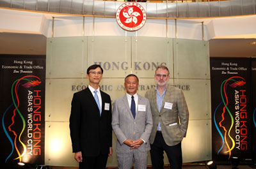
[[[112,128],[116,135],[116,156],[119,169],[147,168],[149,136],[152,115],[147,98],[137,94],[139,79],[130,74],[125,77],[125,96],[113,104]]]

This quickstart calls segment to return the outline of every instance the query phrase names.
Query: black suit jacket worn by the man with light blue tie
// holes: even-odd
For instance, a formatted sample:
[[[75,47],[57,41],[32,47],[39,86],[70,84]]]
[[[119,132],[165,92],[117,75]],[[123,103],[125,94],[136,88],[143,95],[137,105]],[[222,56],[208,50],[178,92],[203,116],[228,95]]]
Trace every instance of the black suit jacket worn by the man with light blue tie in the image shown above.
[[[102,114],[87,87],[74,93],[70,114],[70,136],[73,152],[82,151],[84,156],[108,154],[112,147],[111,99],[100,91],[102,98]],[[106,110],[109,103],[109,110]]]

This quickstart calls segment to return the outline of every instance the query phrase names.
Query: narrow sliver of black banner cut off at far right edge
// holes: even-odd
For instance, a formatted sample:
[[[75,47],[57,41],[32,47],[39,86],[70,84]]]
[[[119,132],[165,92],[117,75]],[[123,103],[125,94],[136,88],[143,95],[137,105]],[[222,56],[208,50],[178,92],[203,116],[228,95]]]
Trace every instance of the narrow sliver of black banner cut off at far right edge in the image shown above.
[[[256,142],[256,58],[252,58],[252,119],[253,142]],[[253,144],[253,162],[256,163],[256,144]]]

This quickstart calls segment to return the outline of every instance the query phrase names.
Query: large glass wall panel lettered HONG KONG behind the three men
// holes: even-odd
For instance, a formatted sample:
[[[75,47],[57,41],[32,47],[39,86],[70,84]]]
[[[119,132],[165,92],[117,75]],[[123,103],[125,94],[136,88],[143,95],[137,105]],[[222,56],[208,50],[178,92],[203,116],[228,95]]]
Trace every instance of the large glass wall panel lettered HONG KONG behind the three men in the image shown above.
[[[47,39],[45,164],[77,166],[68,128],[70,106],[73,93],[87,87],[86,69],[94,63],[101,64],[104,69],[100,87],[111,96],[112,103],[125,94],[126,75],[138,75],[138,94],[144,96],[148,89],[156,86],[156,66],[166,64],[171,77],[168,85],[183,90],[189,108],[188,134],[182,141],[183,162],[211,159],[207,41],[140,36],[83,36]],[[56,140],[60,140],[60,149],[52,148],[58,142]],[[109,158],[107,166],[117,166],[115,144],[116,137],[113,134],[114,154]],[[164,163],[168,163],[165,154]],[[150,156],[148,165],[151,165]]]

